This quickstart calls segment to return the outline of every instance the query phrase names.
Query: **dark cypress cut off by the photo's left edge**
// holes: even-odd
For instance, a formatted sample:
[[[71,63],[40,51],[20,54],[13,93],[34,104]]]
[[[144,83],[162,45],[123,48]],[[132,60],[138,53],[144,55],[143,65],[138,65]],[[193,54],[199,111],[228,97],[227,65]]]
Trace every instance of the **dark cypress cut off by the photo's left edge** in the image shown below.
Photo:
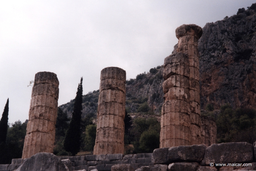
[[[5,143],[8,128],[9,98],[5,104],[4,112],[0,121],[0,143]]]

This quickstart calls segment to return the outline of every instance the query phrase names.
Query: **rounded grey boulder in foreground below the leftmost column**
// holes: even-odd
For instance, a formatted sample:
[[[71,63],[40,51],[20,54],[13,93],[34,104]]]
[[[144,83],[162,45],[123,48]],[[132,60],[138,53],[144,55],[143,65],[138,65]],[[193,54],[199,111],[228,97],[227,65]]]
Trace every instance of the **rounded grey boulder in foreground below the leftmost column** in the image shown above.
[[[37,153],[28,158],[16,171],[69,171],[68,167],[54,154]]]

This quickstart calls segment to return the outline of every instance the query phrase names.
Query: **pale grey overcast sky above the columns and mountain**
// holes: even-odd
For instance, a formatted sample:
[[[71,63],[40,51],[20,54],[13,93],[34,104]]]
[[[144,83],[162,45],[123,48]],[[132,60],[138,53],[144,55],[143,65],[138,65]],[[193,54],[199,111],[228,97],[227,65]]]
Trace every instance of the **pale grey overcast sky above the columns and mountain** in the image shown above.
[[[28,119],[37,72],[59,79],[62,105],[98,90],[105,67],[126,78],[164,64],[182,24],[204,27],[256,0],[0,0],[0,117],[9,98],[9,122]]]

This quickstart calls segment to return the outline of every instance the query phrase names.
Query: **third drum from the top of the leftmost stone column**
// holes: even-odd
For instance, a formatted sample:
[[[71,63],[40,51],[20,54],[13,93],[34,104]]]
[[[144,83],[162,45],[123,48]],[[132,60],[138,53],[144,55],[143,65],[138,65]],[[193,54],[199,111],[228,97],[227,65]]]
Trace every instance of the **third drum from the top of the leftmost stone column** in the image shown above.
[[[30,108],[36,106],[46,106],[58,109],[58,100],[56,100],[53,96],[49,95],[32,96],[30,100]]]

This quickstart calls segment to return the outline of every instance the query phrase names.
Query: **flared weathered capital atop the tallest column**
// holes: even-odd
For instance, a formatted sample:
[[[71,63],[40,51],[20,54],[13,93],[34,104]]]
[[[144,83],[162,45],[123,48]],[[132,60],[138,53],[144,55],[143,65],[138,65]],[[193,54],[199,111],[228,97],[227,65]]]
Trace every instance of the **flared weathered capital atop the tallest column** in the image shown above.
[[[199,39],[203,34],[203,29],[196,24],[183,24],[175,30],[177,39],[186,35],[192,35]]]

